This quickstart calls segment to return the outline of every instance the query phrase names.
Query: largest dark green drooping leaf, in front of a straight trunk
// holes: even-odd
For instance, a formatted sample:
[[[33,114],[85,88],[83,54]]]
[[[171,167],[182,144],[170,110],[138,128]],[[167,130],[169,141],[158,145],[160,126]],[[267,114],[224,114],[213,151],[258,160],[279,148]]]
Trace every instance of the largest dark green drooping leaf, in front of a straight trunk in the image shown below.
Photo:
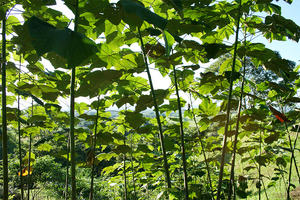
[[[70,69],[99,51],[96,43],[81,33],[68,28],[57,29],[36,16],[32,16],[28,21],[30,37],[35,38],[32,40],[32,45],[38,56],[53,51],[67,58]]]

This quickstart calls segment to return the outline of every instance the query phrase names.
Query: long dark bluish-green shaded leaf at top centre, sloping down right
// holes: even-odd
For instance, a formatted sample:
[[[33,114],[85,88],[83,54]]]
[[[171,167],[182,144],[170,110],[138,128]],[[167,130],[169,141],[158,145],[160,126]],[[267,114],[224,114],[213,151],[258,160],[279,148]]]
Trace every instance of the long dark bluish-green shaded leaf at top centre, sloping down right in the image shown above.
[[[118,4],[120,3],[122,4],[126,13],[135,13],[144,21],[148,22],[149,24],[153,24],[162,30],[166,28],[168,23],[167,19],[164,19],[158,14],[153,13],[142,5],[129,0],[118,1]]]

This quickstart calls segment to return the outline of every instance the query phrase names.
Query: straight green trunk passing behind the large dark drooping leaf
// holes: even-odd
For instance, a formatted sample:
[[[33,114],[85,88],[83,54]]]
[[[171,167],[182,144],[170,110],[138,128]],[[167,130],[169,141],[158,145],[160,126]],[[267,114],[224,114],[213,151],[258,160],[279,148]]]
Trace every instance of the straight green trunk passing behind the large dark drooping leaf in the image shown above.
[[[75,0],[75,25],[74,31],[77,31],[78,26],[78,0]],[[75,169],[75,136],[74,136],[74,121],[75,121],[75,70],[72,68],[71,85],[70,85],[70,151],[71,151],[71,197],[76,200],[76,169]]]

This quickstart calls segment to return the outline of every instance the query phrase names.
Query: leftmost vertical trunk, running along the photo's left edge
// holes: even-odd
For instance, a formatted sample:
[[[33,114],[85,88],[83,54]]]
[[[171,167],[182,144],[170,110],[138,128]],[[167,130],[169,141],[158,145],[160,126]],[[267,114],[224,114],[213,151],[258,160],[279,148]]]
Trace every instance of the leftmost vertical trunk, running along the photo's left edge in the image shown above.
[[[8,151],[6,119],[6,19],[2,20],[2,158],[3,158],[3,199],[8,199]],[[21,171],[22,172],[22,171]]]

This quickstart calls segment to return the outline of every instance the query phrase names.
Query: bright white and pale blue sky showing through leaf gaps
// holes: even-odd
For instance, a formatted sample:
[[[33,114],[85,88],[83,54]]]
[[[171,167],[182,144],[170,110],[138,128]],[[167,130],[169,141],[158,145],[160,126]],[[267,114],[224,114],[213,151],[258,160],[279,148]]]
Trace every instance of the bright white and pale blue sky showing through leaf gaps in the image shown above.
[[[117,0],[113,0],[111,2],[117,2]],[[69,10],[67,8],[67,6],[65,6],[63,3],[63,1],[61,0],[56,0],[57,5],[53,5],[53,6],[49,6],[52,9],[61,11],[64,15],[66,15],[69,19],[74,19],[74,14],[71,10]],[[298,15],[298,12],[300,10],[300,0],[294,0],[292,2],[292,4],[288,4],[283,0],[279,0],[278,2],[276,0],[272,1],[273,4],[276,4],[278,6],[281,7],[281,15],[283,17],[285,17],[286,19],[291,19],[293,20],[297,25],[300,25],[300,17]],[[22,7],[18,7],[19,9],[22,9]],[[266,16],[266,13],[260,13],[259,15],[261,16]],[[16,15],[18,18],[20,18],[20,15]],[[23,19],[20,19],[20,21],[22,21]],[[72,29],[72,27],[74,27],[74,25],[71,23],[69,28]],[[232,35],[228,42],[229,43],[233,43],[234,42],[234,35]],[[185,37],[185,39],[189,39],[188,37]],[[97,42],[97,41],[96,41]],[[289,59],[292,61],[295,61],[298,64],[300,64],[300,43],[295,43],[292,40],[288,40],[287,41],[277,41],[277,40],[273,40],[271,43],[268,42],[267,39],[265,39],[264,37],[260,36],[260,37],[256,37],[253,41],[253,43],[264,43],[266,48],[272,49],[272,50],[276,50],[279,51],[282,58],[285,59]],[[224,41],[224,43],[226,43],[226,41]],[[121,48],[122,49],[122,48]],[[131,45],[131,49],[134,51],[141,51],[140,46],[137,45],[137,43]],[[199,77],[199,73],[201,71],[203,71],[206,67],[208,67],[211,63],[213,63],[214,60],[211,59],[209,63],[206,64],[201,64],[200,65],[200,69],[195,71],[195,77]],[[43,60],[43,64],[45,66],[45,68],[47,68],[49,71],[53,71],[54,68],[51,66],[49,61]],[[184,65],[189,65],[192,63],[186,63],[184,62]],[[154,67],[153,67],[154,68]],[[62,70],[62,69],[59,69]],[[161,74],[157,71],[157,70],[150,70],[151,72],[151,76],[152,76],[152,81],[154,84],[154,88],[155,89],[166,89],[170,86],[170,79],[168,78],[162,78]],[[146,73],[142,73],[139,74],[138,76],[142,76],[143,78],[148,79],[147,74]],[[188,96],[187,94],[181,93],[180,94],[184,99],[188,100]],[[173,97],[175,98],[175,97]],[[85,102],[88,103],[92,102],[95,99],[89,100],[88,98],[78,98],[77,101],[78,102]],[[63,107],[63,109],[69,109],[69,99],[60,99],[59,100],[61,102],[61,106]],[[114,106],[115,109],[117,109],[116,106]]]

